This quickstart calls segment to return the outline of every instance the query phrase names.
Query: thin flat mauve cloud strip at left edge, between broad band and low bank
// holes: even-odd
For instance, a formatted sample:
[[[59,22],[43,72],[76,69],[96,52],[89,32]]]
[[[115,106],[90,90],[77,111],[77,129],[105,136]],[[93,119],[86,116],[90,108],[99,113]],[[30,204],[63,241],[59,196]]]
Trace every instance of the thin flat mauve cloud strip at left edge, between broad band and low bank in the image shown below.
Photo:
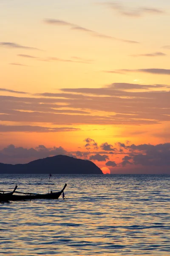
[[[79,128],[71,127],[43,127],[32,125],[0,125],[0,132],[65,132],[79,131]]]

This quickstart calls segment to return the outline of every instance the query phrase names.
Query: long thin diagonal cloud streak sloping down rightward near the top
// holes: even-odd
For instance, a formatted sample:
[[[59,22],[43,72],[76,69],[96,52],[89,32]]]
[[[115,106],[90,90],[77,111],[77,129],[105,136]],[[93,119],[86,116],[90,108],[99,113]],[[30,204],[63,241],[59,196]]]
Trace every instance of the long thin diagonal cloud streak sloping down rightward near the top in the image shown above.
[[[139,42],[136,42],[136,41],[125,40],[125,39],[121,39],[121,38],[115,38],[115,37],[109,36],[109,35],[103,35],[103,34],[100,34],[98,32],[95,32],[95,31],[93,31],[91,29],[87,29],[85,27],[82,27],[82,26],[79,26],[79,25],[75,25],[73,23],[69,23],[69,22],[66,22],[64,20],[45,19],[44,22],[46,24],[49,24],[49,25],[68,26],[72,30],[77,30],[77,31],[85,32],[86,34],[89,34],[89,35],[91,35],[93,37],[106,38],[106,39],[121,41],[121,42],[125,42],[125,43],[130,43],[130,44],[139,44]]]

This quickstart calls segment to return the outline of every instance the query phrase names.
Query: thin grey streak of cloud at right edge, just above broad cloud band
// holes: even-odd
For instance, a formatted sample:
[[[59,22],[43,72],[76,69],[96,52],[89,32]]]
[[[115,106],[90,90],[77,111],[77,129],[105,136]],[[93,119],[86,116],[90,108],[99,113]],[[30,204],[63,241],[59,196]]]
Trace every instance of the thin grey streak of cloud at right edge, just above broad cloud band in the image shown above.
[[[170,75],[170,69],[163,69],[163,68],[145,68],[145,69],[137,69],[137,70],[128,70],[128,69],[122,69],[122,70],[110,70],[110,71],[104,71],[105,73],[150,73],[150,74],[159,74],[159,75]]]

